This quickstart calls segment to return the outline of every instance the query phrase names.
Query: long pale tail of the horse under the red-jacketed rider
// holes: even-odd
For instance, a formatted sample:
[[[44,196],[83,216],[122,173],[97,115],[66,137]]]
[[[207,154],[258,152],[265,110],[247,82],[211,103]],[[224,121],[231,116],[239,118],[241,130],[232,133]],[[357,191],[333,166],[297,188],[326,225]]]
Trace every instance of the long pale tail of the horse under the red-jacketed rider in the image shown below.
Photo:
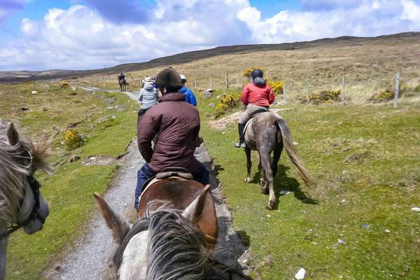
[[[314,179],[312,179],[308,170],[304,168],[302,161],[300,160],[299,156],[297,155],[297,151],[293,146],[292,135],[290,134],[290,129],[286,123],[286,120],[284,120],[283,118],[276,118],[274,122],[276,123],[277,129],[281,132],[281,138],[283,139],[283,147],[286,150],[288,157],[297,168],[297,173],[299,173],[300,177],[302,177],[304,183],[314,184]]]

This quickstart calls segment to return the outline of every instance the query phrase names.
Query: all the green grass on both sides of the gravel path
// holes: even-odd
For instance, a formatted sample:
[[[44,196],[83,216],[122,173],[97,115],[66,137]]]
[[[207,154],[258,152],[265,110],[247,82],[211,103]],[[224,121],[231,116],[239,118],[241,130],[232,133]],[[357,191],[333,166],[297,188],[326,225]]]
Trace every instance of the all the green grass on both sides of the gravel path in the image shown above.
[[[33,96],[31,90],[38,94]],[[51,161],[66,162],[52,176],[37,174],[50,205],[43,230],[31,236],[18,231],[9,239],[6,279],[42,278],[51,261],[61,257],[62,248],[83,231],[94,207],[92,192],[106,190],[115,168],[69,163],[70,155],[118,157],[125,153],[135,135],[138,106],[125,94],[63,90],[59,85],[46,89],[36,84],[1,85],[0,94],[1,118],[15,122],[30,136],[52,137],[56,153]],[[225,90],[218,90],[206,99],[202,92],[195,92],[200,134],[232,207],[234,227],[250,239],[252,276],[293,279],[304,267],[305,279],[420,277],[419,214],[410,210],[420,205],[418,106],[399,104],[396,110],[390,103],[345,108],[339,104],[286,106],[281,115],[293,141],[299,143],[296,148],[304,165],[318,183],[305,186],[283,153],[275,178],[278,209],[268,211],[268,197],[258,186],[257,153],[252,153],[253,182],[246,184],[246,157],[232,146],[237,139],[236,123],[223,131],[208,125],[218,104],[216,96],[223,94]],[[120,111],[116,105],[125,109]],[[29,110],[19,111],[22,107]],[[61,142],[71,127],[86,141],[74,151],[65,151]],[[290,193],[279,196],[281,190]],[[362,228],[363,224],[369,228]],[[339,244],[338,239],[346,244]],[[274,265],[255,269],[268,257]]]

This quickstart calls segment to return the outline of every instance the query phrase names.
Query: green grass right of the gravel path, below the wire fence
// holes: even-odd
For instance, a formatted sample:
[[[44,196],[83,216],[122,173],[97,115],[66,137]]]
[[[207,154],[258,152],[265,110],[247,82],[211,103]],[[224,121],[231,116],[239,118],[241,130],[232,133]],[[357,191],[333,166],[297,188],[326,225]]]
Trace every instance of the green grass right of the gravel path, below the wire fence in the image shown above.
[[[268,211],[258,154],[252,154],[253,182],[244,183],[246,157],[232,146],[237,125],[212,130],[203,117],[211,116],[210,102],[217,105],[215,97],[199,99],[200,133],[234,227],[250,237],[251,275],[292,279],[304,267],[305,279],[419,279],[419,214],[411,210],[420,205],[418,107],[286,106],[281,116],[317,185],[305,186],[283,153],[274,183],[278,207]],[[281,190],[290,193],[279,196]],[[255,269],[267,257],[274,265]]]

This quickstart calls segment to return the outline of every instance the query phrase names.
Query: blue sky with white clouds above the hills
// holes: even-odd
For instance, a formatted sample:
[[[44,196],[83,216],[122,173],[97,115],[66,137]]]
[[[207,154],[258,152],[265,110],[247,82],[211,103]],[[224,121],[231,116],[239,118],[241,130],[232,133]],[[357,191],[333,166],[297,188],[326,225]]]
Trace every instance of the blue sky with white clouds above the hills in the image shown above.
[[[0,71],[406,31],[420,31],[420,0],[0,0]]]

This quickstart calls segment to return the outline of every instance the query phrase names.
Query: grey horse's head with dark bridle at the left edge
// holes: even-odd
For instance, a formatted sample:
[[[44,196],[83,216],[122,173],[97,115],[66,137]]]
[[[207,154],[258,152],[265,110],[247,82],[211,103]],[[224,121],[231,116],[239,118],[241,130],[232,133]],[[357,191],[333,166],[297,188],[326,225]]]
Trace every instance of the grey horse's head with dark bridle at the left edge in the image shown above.
[[[6,270],[8,235],[23,228],[28,235],[41,230],[49,214],[48,204],[34,178],[36,170],[49,172],[46,141],[21,139],[13,123],[0,124],[0,279]]]

